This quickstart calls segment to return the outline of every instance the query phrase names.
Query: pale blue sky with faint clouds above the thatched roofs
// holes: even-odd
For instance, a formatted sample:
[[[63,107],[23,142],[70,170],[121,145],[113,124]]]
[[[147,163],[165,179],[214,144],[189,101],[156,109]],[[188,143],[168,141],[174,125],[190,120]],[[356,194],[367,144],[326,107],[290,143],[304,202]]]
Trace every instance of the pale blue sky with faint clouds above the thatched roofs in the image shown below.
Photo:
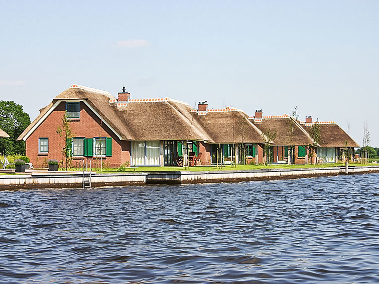
[[[378,1],[3,1],[0,100],[71,84],[336,121],[379,147]]]

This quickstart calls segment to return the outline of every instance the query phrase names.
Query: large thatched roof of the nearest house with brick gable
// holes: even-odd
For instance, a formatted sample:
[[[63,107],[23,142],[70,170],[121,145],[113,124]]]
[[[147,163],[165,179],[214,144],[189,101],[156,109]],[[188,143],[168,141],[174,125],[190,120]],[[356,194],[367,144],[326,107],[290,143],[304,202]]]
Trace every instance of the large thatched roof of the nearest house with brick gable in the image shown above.
[[[116,98],[108,92],[81,86],[71,87],[56,96],[18,139],[23,139],[59,100],[84,100],[124,140],[211,140],[205,129],[192,119],[191,107],[186,103],[163,99],[131,101],[125,106],[117,106],[110,102]]]

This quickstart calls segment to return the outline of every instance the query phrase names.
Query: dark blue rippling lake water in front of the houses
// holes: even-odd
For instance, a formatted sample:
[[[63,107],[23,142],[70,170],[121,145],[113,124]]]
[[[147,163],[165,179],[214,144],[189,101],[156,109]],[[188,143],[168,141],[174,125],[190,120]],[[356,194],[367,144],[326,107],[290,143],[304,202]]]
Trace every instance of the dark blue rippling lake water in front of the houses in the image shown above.
[[[379,283],[379,175],[0,191],[1,283]]]

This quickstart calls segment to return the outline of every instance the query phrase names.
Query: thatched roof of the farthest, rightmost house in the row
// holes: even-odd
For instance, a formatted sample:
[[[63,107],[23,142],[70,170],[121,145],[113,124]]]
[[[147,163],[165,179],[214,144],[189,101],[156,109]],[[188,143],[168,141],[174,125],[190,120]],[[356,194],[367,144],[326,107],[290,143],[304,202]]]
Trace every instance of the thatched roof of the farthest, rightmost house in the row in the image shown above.
[[[309,132],[311,126],[306,125],[302,124],[303,128]],[[321,136],[319,144],[321,147],[342,148],[345,147],[345,141],[347,141],[347,147],[360,147],[337,123],[320,122],[319,125]]]

